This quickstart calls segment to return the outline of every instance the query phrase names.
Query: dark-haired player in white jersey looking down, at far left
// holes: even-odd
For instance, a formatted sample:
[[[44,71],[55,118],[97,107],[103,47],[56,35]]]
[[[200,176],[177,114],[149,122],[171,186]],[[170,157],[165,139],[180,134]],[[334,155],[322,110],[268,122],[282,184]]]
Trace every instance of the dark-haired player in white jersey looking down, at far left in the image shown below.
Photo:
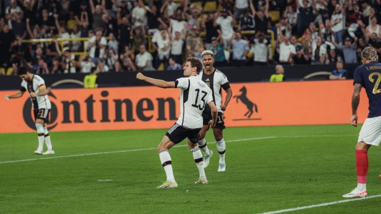
[[[46,89],[45,81],[40,76],[32,74],[26,67],[20,67],[17,73],[22,79],[20,90],[13,95],[5,95],[5,100],[19,98],[24,95],[25,91],[29,92],[30,100],[33,104],[38,136],[38,147],[34,153],[38,155],[52,155],[54,154],[54,150],[48,128],[46,127],[46,123],[49,121],[48,116],[51,109],[51,103],[47,95],[48,90]],[[48,148],[45,152],[43,152],[44,141]]]

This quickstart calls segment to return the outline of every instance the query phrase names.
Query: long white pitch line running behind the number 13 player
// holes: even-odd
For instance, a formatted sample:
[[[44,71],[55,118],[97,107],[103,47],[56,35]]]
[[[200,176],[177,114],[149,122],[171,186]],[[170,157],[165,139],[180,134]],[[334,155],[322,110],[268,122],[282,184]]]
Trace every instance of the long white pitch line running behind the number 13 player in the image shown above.
[[[225,142],[240,142],[247,140],[263,140],[263,139],[273,139],[273,138],[284,138],[284,137],[321,137],[321,136],[331,136],[331,137],[340,137],[340,136],[357,136],[357,135],[294,135],[294,136],[265,136],[265,137],[254,137],[254,138],[245,138],[245,139],[236,139],[236,140],[226,140]],[[215,142],[210,142],[212,144]],[[177,145],[175,147],[184,147],[186,145]],[[155,150],[156,148],[145,148],[145,149],[130,149],[130,150],[120,150],[120,151],[110,151],[110,152],[95,152],[95,153],[86,153],[86,154],[76,154],[76,155],[63,155],[63,156],[52,156],[46,158],[31,158],[31,159],[22,159],[14,161],[3,161],[0,164],[9,164],[9,163],[18,163],[18,162],[27,162],[27,161],[38,161],[38,160],[48,160],[48,159],[57,159],[57,158],[72,158],[72,157],[82,157],[82,156],[91,156],[91,155],[104,155],[104,154],[113,154],[113,153],[124,153],[124,152],[137,152],[145,150]]]

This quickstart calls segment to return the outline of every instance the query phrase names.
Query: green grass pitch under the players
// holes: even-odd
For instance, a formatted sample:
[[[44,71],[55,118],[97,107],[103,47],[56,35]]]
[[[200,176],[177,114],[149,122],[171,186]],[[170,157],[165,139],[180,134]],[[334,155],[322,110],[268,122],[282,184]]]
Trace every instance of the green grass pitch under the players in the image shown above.
[[[217,172],[209,131],[215,152],[206,168],[210,183],[194,184],[198,171],[182,142],[170,150],[175,189],[155,189],[166,178],[155,149],[165,129],[52,131],[53,156],[33,154],[36,133],[0,134],[0,214],[258,214],[339,201],[357,183],[359,130],[227,128],[225,172]],[[134,151],[3,163],[122,150]],[[371,147],[369,196],[381,194],[380,160],[379,148]],[[377,197],[289,213],[379,214],[380,204]]]

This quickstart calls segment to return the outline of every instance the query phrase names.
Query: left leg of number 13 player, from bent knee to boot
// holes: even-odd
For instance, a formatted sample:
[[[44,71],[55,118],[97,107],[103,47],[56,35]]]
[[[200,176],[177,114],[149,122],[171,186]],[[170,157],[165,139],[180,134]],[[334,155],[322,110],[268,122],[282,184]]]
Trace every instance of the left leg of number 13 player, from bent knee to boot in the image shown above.
[[[172,170],[172,159],[169,154],[169,149],[174,146],[175,143],[172,142],[167,135],[164,135],[160,144],[157,146],[157,151],[159,152],[159,158],[161,165],[164,168],[165,174],[167,175],[167,181],[157,188],[174,188],[177,187],[175,177]]]

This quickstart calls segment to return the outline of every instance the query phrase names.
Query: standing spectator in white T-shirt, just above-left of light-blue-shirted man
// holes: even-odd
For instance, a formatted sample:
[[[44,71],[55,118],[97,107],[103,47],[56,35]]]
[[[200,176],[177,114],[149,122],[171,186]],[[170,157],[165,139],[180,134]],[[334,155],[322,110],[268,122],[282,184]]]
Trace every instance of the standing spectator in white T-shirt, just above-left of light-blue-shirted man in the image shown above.
[[[233,17],[231,16],[231,12],[228,11],[226,8],[224,8],[221,13],[217,12],[216,19],[214,21],[214,27],[217,27],[218,25],[221,29],[224,48],[227,48],[229,46],[229,41],[234,34],[233,25],[235,24],[235,19],[233,19]]]

